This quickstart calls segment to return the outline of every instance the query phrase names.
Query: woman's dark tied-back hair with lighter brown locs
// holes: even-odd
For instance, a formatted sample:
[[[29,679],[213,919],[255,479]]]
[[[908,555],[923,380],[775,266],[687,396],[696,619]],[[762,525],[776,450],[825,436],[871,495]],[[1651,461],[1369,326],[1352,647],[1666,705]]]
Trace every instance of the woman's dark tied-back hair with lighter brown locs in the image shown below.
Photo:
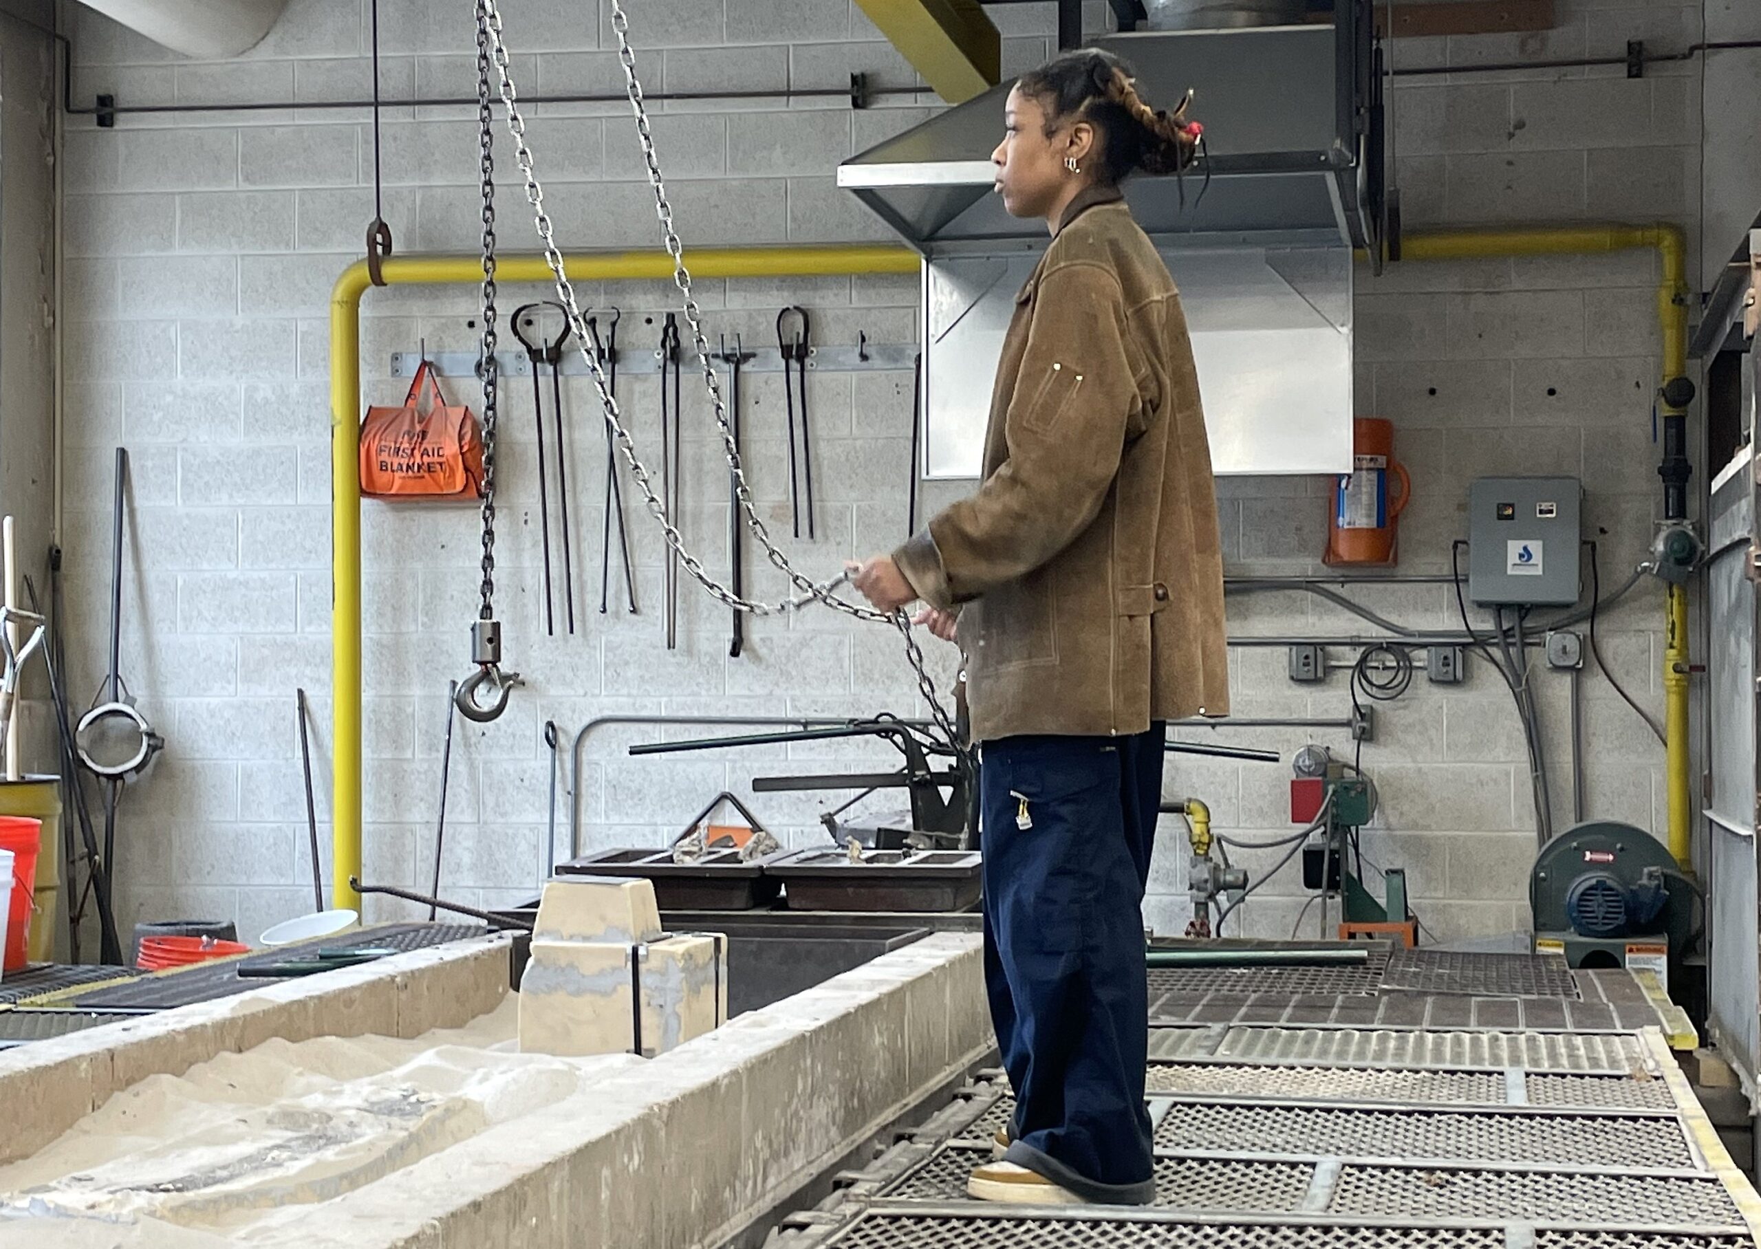
[[[1097,178],[1115,185],[1134,169],[1178,174],[1197,157],[1205,127],[1187,120],[1192,93],[1173,111],[1138,95],[1131,65],[1101,48],[1083,48],[1023,74],[1016,86],[1046,109],[1048,123],[1087,120],[1101,132]]]

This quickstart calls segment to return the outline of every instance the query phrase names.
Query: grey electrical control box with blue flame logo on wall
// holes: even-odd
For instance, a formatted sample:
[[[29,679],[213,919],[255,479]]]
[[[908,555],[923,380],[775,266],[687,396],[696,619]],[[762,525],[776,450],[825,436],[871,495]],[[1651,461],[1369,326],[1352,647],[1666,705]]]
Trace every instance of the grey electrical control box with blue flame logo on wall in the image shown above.
[[[1479,606],[1569,608],[1583,594],[1576,477],[1481,477],[1469,488],[1467,594]]]

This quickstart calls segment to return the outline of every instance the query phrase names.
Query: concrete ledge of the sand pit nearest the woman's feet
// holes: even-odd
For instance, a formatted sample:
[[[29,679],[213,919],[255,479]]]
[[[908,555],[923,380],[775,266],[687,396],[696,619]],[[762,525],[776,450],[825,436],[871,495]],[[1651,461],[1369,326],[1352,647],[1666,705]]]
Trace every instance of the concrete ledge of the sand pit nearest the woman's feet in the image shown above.
[[[981,939],[928,937],[245,1242],[682,1249],[792,1194],[993,1046]]]

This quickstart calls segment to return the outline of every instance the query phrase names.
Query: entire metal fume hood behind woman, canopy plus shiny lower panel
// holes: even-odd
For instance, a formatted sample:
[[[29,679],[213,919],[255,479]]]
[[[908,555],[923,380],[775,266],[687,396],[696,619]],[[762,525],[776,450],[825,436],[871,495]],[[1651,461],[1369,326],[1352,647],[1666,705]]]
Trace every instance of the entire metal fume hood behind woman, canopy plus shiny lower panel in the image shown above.
[[[1352,469],[1352,247],[1381,255],[1381,85],[1372,12],[1338,26],[1124,33],[1099,41],[1157,104],[1196,92],[1203,171],[1125,194],[1180,285],[1220,476]],[[1009,85],[838,169],[925,255],[923,463],[976,477],[1014,294],[1046,245],[991,194]],[[1203,187],[1203,199],[1199,190]]]

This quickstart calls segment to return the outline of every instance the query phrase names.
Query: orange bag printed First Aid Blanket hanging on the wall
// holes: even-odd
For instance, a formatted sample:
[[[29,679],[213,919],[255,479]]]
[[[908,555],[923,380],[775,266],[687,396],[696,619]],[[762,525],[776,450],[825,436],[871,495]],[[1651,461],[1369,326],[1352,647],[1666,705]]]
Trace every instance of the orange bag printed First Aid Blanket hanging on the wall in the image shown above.
[[[463,403],[447,405],[423,361],[402,407],[361,421],[361,493],[372,499],[483,499],[483,432]]]

